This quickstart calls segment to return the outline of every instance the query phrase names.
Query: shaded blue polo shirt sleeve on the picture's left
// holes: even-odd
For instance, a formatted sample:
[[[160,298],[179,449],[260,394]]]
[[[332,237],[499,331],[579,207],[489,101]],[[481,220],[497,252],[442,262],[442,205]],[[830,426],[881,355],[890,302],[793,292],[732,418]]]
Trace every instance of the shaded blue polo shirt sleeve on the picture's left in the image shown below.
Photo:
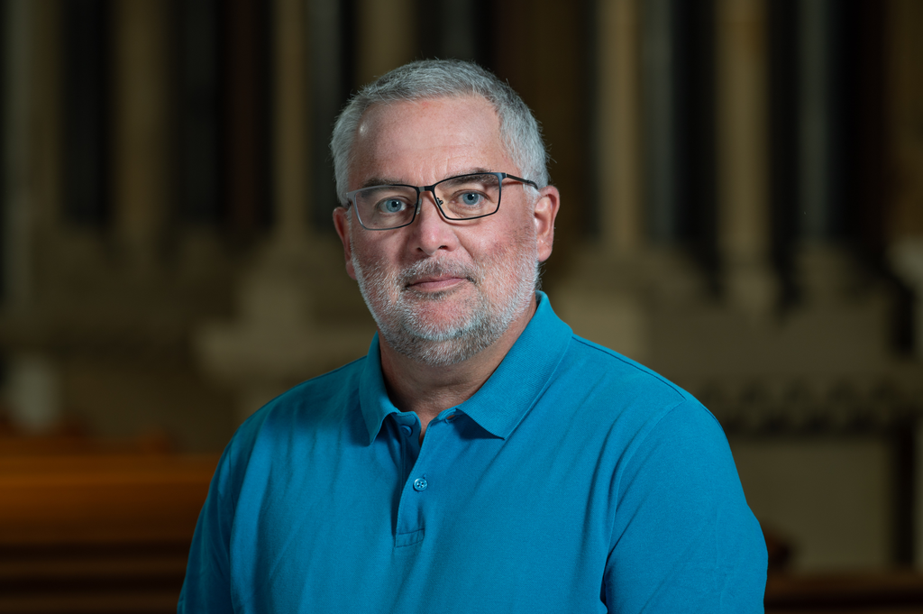
[[[222,454],[211,478],[209,496],[198,514],[186,564],[186,580],[176,608],[178,614],[234,611],[229,557],[234,521],[234,506],[228,488],[230,449],[229,445]]]

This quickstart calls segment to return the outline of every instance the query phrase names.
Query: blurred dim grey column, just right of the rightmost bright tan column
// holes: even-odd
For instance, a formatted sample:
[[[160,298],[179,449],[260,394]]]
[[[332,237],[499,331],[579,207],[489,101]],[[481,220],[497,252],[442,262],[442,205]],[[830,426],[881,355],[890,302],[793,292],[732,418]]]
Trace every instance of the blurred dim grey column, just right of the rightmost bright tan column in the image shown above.
[[[835,0],[798,6],[797,275],[809,299],[829,299],[848,281],[842,235],[842,135],[837,96]]]

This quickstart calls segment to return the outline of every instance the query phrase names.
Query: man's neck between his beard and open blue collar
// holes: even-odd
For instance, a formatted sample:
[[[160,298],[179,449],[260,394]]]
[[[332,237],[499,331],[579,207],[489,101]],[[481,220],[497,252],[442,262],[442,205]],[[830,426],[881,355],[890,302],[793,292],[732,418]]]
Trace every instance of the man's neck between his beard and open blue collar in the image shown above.
[[[495,343],[468,360],[448,367],[433,367],[395,352],[378,334],[381,351],[381,372],[391,403],[404,412],[420,417],[423,433],[430,420],[453,405],[464,403],[480,390],[497,370],[509,348],[519,339],[535,313],[533,296],[529,307],[509,325]]]

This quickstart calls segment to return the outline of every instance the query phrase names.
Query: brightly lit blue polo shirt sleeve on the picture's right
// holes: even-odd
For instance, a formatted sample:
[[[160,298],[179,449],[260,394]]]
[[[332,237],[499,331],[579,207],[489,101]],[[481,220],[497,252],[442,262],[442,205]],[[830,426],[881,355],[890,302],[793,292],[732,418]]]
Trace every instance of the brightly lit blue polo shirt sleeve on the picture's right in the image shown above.
[[[689,400],[617,472],[605,569],[610,612],[763,611],[766,545],[724,431]]]

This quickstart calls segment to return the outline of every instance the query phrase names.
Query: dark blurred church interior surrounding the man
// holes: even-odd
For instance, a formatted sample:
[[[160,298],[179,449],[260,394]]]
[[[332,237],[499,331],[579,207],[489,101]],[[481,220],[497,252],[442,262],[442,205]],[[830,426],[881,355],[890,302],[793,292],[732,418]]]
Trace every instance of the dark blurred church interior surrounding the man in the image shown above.
[[[923,2],[0,0],[0,30],[0,612],[174,607],[234,428],[366,353],[330,128],[430,57],[532,107],[544,289],[721,421],[767,608],[923,611]]]

